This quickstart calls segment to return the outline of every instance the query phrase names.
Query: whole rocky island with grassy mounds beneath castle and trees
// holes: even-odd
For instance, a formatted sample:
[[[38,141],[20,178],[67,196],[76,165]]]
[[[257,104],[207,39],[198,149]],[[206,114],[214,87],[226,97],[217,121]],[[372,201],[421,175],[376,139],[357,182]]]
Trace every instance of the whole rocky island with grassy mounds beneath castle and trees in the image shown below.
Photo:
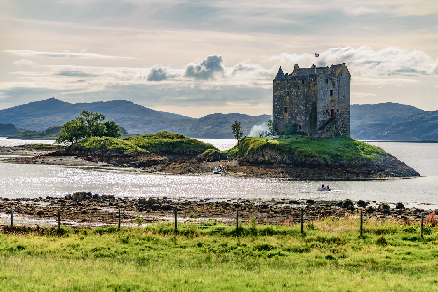
[[[37,145],[37,144],[35,144]],[[32,147],[37,147],[37,146]],[[14,154],[29,146],[15,147]],[[9,151],[9,152],[8,152]],[[3,148],[0,154],[12,154]],[[288,136],[278,139],[244,137],[240,146],[219,151],[212,144],[162,131],[122,140],[92,137],[56,151],[2,162],[132,167],[142,172],[213,175],[229,156],[226,176],[282,179],[390,179],[420,176],[410,166],[376,146],[340,135],[324,140]],[[41,155],[42,154],[42,155]]]

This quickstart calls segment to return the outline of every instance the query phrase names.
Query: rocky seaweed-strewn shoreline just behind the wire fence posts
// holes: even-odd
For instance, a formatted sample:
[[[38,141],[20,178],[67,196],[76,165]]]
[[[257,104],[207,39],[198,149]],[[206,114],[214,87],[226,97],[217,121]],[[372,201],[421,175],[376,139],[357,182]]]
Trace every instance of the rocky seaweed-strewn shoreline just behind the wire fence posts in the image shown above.
[[[373,206],[374,203],[374,206]],[[57,210],[60,208],[61,223],[73,226],[114,225],[118,222],[118,209],[121,210],[122,225],[136,225],[141,216],[143,223],[173,221],[174,210],[177,210],[179,222],[187,220],[208,221],[233,225],[236,211],[239,211],[239,221],[249,222],[254,218],[260,224],[292,224],[300,221],[301,208],[304,210],[304,220],[333,216],[357,216],[360,211],[365,218],[396,219],[406,221],[420,218],[420,214],[434,212],[438,209],[424,210],[420,208],[405,208],[398,203],[391,208],[389,204],[375,202],[353,202],[346,199],[343,202],[325,204],[313,200],[289,201],[250,201],[250,200],[212,200],[184,198],[128,198],[113,195],[99,195],[91,192],[76,192],[65,197],[46,197],[38,199],[0,198],[2,218],[9,218],[11,208],[15,222],[27,224],[57,225]],[[7,220],[5,220],[8,222]],[[137,222],[137,223],[136,223]]]

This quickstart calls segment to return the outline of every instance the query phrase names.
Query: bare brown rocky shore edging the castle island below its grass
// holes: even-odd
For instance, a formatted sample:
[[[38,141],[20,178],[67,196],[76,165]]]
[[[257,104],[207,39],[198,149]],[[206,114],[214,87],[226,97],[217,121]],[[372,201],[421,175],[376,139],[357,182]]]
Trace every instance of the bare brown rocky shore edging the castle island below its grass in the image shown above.
[[[45,151],[44,153],[42,151]],[[32,157],[7,158],[9,163],[93,165],[132,167],[137,171],[155,174],[211,176],[212,169],[224,161],[209,161],[201,155],[169,155],[164,153],[126,153],[119,151],[85,151],[79,148],[46,149],[32,153],[29,149],[2,148],[0,155],[29,155]],[[25,153],[25,154],[20,154]],[[217,175],[219,176],[219,175]],[[276,179],[324,179],[324,180],[366,180],[393,179],[420,176],[405,163],[394,159],[357,162],[325,161],[321,158],[293,158],[282,163],[231,160],[226,176],[259,177]]]

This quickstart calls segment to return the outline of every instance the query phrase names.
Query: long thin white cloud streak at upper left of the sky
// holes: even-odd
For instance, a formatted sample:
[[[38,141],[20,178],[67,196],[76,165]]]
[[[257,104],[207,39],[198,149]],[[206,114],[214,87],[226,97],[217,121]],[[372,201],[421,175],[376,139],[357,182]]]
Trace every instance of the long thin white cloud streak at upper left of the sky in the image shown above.
[[[84,51],[84,50],[82,50]],[[86,51],[86,50],[85,50]],[[27,57],[27,58],[84,58],[84,59],[137,59],[132,57],[121,57],[121,56],[106,56],[102,54],[95,53],[71,53],[70,51],[62,51],[62,52],[35,52],[29,51],[25,49],[8,49],[5,52],[13,53],[18,56]]]

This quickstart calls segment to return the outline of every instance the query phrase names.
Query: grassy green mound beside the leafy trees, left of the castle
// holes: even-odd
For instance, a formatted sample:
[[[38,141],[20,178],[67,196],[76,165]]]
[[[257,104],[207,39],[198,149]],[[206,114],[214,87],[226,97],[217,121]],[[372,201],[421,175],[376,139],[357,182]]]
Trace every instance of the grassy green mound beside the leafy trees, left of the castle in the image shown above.
[[[156,134],[125,137],[122,140],[113,137],[91,137],[78,141],[70,147],[92,150],[162,152],[167,154],[193,155],[202,153],[207,149],[217,150],[212,144],[167,131],[161,131]]]

